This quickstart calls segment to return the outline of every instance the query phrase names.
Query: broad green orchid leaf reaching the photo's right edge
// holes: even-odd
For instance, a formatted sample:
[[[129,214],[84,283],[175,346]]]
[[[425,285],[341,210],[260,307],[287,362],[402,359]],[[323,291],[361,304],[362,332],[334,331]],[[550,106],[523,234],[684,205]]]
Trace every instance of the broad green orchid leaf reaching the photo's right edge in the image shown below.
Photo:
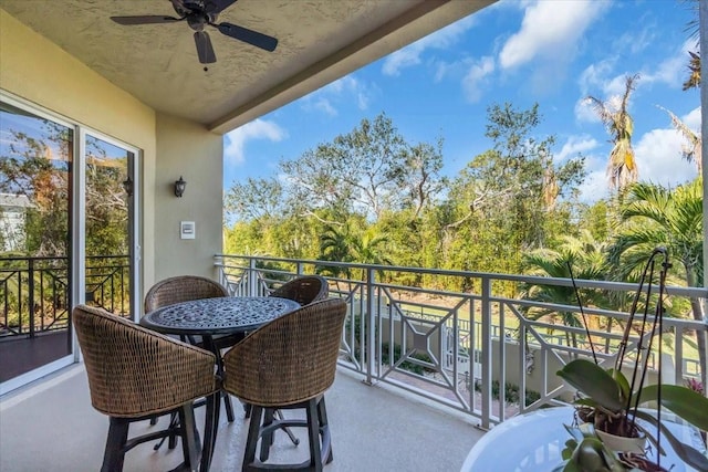
[[[644,387],[639,391],[642,402],[656,401],[658,385]],[[662,385],[662,406],[698,429],[708,431],[708,398],[679,385]]]

